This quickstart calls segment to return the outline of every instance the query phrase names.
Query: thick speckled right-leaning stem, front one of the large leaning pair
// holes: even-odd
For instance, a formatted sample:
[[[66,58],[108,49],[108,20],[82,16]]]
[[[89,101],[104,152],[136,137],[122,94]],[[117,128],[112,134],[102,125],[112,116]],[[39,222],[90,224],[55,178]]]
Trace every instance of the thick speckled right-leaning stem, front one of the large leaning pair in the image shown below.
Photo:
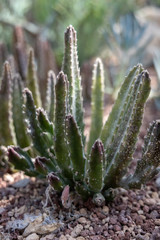
[[[124,121],[121,120],[117,131],[117,138],[112,140],[111,147],[106,151],[106,159],[109,161],[105,186],[119,185],[128,164],[132,160],[137,136],[142,122],[143,109],[150,92],[150,78],[148,72],[142,71],[136,77],[132,99],[129,100]],[[125,107],[124,107],[125,109]],[[115,145],[115,146],[114,146]],[[116,148],[116,149],[115,149]],[[114,152],[111,152],[111,149]],[[115,185],[114,185],[115,184]]]

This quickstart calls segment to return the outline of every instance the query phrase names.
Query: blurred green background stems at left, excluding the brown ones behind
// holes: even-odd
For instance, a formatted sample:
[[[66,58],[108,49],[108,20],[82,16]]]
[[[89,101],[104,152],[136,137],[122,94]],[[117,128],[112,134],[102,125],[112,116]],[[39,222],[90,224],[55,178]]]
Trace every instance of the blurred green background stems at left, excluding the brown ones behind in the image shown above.
[[[31,139],[27,134],[23,114],[23,92],[25,86],[32,90],[36,106],[41,105],[38,81],[35,73],[33,50],[29,52],[26,71],[26,80],[22,81],[19,74],[14,74],[12,67],[6,61],[0,88],[0,164],[6,158],[6,147],[18,145],[21,148],[30,148]],[[31,154],[31,150],[30,150]]]

